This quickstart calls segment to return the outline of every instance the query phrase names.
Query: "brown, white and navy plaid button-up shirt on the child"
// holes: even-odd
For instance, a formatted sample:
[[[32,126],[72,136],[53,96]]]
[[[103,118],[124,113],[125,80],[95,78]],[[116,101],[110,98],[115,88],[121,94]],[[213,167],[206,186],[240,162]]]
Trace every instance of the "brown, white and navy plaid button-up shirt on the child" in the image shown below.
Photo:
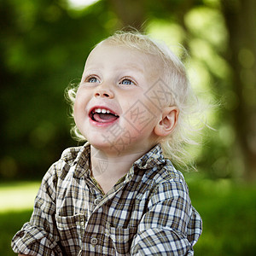
[[[183,175],[156,145],[106,195],[90,177],[90,145],[67,148],[12,240],[29,255],[193,255],[201,217]]]

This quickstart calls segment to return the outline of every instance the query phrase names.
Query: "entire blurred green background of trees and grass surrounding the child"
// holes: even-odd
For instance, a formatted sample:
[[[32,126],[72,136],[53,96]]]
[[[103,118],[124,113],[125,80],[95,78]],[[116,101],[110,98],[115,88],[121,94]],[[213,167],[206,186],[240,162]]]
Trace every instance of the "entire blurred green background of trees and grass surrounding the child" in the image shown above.
[[[133,26],[186,63],[207,110],[199,172],[185,173],[204,221],[195,255],[256,250],[256,2],[253,0],[0,0],[0,253],[29,219],[39,182],[78,145],[64,91],[79,84],[90,49]],[[185,55],[179,45],[188,51]]]

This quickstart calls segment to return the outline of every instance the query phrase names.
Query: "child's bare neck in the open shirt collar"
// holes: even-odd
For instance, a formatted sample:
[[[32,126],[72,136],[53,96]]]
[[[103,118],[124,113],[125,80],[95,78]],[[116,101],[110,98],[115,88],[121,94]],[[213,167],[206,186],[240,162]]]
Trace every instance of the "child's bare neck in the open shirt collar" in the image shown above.
[[[132,164],[145,153],[112,155],[90,145],[91,173],[104,193],[107,193],[121,177],[129,172]]]

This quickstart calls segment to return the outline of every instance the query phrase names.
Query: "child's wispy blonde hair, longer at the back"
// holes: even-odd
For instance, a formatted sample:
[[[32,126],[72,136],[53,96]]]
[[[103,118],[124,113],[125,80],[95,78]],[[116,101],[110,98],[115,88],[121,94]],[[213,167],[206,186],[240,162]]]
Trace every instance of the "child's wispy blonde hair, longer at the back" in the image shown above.
[[[165,156],[170,158],[175,165],[188,168],[189,162],[191,164],[191,158],[189,157],[186,145],[199,144],[195,140],[195,133],[201,131],[203,125],[201,125],[201,128],[195,125],[195,119],[201,120],[199,118],[201,116],[201,108],[197,108],[199,102],[191,90],[183,62],[166,44],[159,43],[139,32],[116,32],[113,36],[104,39],[99,44],[104,42],[113,45],[124,45],[128,48],[137,49],[143,53],[159,57],[163,67],[162,73],[164,78],[160,79],[159,82],[165,84],[166,89],[169,90],[169,93],[166,94],[169,96],[169,106],[176,106],[179,109],[177,126],[169,136],[160,141],[160,144]],[[67,99],[71,103],[72,108],[76,90],[77,87],[67,90]],[[201,123],[203,124],[203,122]],[[75,125],[73,125],[72,134],[80,142],[86,140]]]

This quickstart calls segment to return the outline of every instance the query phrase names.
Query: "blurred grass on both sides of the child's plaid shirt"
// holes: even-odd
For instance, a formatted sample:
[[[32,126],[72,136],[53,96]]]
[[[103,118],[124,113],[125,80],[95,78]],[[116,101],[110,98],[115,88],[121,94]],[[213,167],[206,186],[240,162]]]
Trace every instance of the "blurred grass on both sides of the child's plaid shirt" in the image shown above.
[[[196,256],[254,255],[256,188],[230,180],[212,181],[188,175],[193,206],[201,213],[203,233]],[[0,254],[9,256],[12,236],[30,218],[39,183],[0,184]]]

